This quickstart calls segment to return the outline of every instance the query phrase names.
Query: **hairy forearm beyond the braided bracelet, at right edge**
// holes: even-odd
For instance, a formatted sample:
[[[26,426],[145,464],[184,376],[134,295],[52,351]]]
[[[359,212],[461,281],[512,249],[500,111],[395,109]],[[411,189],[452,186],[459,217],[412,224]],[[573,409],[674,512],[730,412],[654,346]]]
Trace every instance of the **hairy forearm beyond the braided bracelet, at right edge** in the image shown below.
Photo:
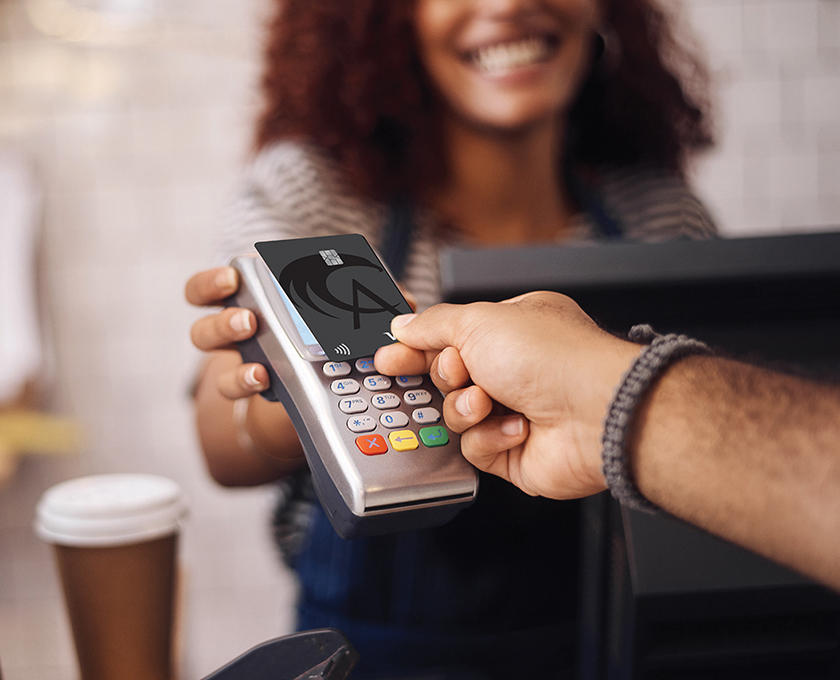
[[[840,390],[691,357],[635,419],[633,475],[677,517],[840,589]]]

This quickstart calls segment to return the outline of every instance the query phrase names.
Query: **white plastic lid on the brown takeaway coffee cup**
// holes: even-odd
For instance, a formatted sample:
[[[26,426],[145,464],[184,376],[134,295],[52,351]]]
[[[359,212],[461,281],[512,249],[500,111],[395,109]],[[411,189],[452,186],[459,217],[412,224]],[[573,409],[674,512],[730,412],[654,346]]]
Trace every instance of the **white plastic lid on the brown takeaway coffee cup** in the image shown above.
[[[35,512],[35,533],[48,543],[117,546],[175,533],[186,503],[166,477],[94,475],[48,489]]]

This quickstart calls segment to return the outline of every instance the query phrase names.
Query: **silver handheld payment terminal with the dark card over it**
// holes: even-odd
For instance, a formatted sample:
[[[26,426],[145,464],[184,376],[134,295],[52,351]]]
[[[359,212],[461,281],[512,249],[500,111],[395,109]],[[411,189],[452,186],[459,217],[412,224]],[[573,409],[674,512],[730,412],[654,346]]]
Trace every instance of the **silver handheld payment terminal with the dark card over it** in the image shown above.
[[[394,342],[390,320],[410,312],[364,237],[256,244],[234,258],[255,335],[238,343],[263,364],[266,399],[286,408],[315,490],[343,538],[444,524],[476,497],[478,477],[443,423],[428,375],[389,377],[373,353]]]

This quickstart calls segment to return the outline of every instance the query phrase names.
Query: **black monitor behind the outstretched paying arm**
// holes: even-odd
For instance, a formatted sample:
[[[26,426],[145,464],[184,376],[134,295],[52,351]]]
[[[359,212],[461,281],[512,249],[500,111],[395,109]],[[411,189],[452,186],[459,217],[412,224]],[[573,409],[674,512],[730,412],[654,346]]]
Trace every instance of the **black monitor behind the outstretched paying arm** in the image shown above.
[[[574,298],[606,329],[682,332],[741,358],[840,379],[840,232],[452,248],[444,298]],[[666,516],[584,502],[581,676],[840,677],[840,597]]]

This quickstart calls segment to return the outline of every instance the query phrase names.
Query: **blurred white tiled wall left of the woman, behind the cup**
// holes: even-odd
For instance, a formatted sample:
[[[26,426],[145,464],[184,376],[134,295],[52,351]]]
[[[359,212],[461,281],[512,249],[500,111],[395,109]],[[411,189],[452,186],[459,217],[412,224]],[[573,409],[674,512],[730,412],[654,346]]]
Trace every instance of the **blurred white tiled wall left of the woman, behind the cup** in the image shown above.
[[[28,157],[45,189],[51,402],[86,442],[71,460],[25,459],[0,489],[0,665],[6,680],[75,676],[53,562],[30,528],[40,495],[143,471],[189,498],[181,670],[199,678],[289,631],[295,596],[269,539],[271,493],[209,480],[188,397],[197,312],[183,287],[210,261],[250,141],[262,3],[88,2],[135,9],[110,44],[44,36],[28,16],[38,4],[0,2],[0,147]]]

